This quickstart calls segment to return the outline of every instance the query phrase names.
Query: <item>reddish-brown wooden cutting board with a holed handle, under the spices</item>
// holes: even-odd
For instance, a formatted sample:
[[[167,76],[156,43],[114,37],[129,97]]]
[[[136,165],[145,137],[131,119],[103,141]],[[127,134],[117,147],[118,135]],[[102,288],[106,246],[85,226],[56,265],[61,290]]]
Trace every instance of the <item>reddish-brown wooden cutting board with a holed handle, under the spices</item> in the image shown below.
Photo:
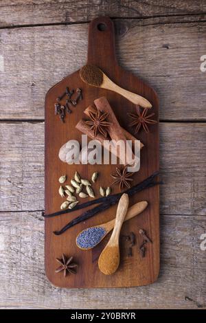
[[[147,98],[152,103],[152,112],[155,112],[155,118],[158,120],[159,104],[155,91],[133,74],[119,67],[117,63],[114,26],[111,19],[107,17],[98,17],[91,21],[89,25],[87,63],[100,67],[117,85]],[[80,87],[83,100],[76,107],[71,108],[72,113],[67,115],[65,123],[62,123],[58,115],[54,115],[54,103],[56,98],[65,92],[66,87],[69,87],[69,89]],[[134,129],[128,126],[127,115],[128,112],[135,111],[134,104],[112,91],[86,85],[80,79],[79,71],[67,76],[47,92],[45,98],[45,214],[60,210],[62,198],[58,194],[60,186],[58,178],[61,175],[66,174],[71,179],[74,172],[78,171],[82,178],[91,178],[93,172],[98,171],[100,176],[93,186],[97,196],[99,196],[100,186],[107,187],[113,181],[110,174],[115,172],[115,165],[69,166],[58,158],[60,147],[68,140],[81,140],[81,133],[75,129],[75,126],[80,119],[85,118],[84,109],[93,100],[102,96],[105,96],[110,102],[119,124],[134,134]],[[159,170],[159,124],[150,126],[150,133],[148,134],[141,131],[138,134],[138,139],[145,146],[141,150],[141,168],[134,176],[134,183],[139,183]],[[118,186],[113,188],[113,193],[115,192],[119,192]],[[60,230],[71,219],[82,214],[85,209],[45,219],[45,269],[50,282],[58,287],[67,288],[133,287],[155,282],[159,274],[159,187],[155,186],[135,194],[130,198],[130,205],[142,200],[149,202],[148,208],[139,216],[124,223],[122,227],[122,234],[126,235],[133,231],[137,235],[137,244],[133,247],[133,256],[127,256],[126,245],[121,243],[120,266],[112,276],[105,276],[98,269],[98,256],[106,245],[110,234],[100,245],[88,251],[78,249],[76,236],[86,227],[113,219],[117,205],[93,216],[85,223],[71,227],[60,236],[55,236],[53,231]],[[153,242],[147,245],[145,258],[141,258],[139,254],[141,238],[137,234],[138,227],[146,230]],[[62,253],[67,256],[74,256],[74,260],[79,265],[76,275],[69,275],[65,278],[62,272],[55,273],[55,269],[58,267],[56,258],[61,258]]]

